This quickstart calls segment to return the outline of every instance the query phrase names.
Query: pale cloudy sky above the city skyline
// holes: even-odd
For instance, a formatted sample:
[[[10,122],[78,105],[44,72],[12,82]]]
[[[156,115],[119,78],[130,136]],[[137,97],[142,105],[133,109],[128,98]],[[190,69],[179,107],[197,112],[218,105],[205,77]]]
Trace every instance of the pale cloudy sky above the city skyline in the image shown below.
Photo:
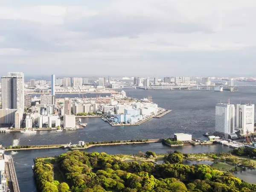
[[[256,76],[255,0],[0,0],[0,75]]]

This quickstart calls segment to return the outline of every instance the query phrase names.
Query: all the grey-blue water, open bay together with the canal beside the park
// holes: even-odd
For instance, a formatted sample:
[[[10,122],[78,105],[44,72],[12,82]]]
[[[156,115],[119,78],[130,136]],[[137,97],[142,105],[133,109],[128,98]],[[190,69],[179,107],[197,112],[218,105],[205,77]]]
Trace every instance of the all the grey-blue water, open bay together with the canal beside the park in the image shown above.
[[[125,90],[127,95],[138,99],[151,95],[153,102],[160,107],[172,109],[171,113],[163,116],[161,119],[151,119],[139,126],[111,127],[101,118],[84,118],[83,122],[87,127],[77,131],[38,131],[37,134],[28,135],[20,133],[0,134],[0,145],[44,145],[44,144],[64,144],[78,143],[84,141],[103,141],[103,140],[131,140],[131,139],[154,139],[173,137],[174,133],[189,133],[193,137],[202,138],[202,134],[207,131],[214,131],[215,105],[217,102],[256,103],[256,87],[239,87],[239,91],[214,92],[206,90]],[[87,97],[93,97],[98,94],[86,94]],[[60,97],[61,95],[59,95]],[[81,96],[81,94],[80,94]],[[63,94],[62,97],[79,97],[78,94]],[[58,98],[58,96],[57,96]],[[203,137],[204,138],[204,137]],[[183,153],[195,152],[225,152],[229,148],[222,145],[209,146],[184,146],[178,148],[169,148],[168,146],[156,144],[142,145],[120,145],[89,148],[87,151],[99,151],[109,154],[134,154],[138,151],[155,151],[157,153],[166,153],[169,150],[179,150]],[[193,151],[195,150],[195,151]],[[13,154],[15,168],[21,192],[35,191],[31,166],[35,157],[44,155],[55,156],[66,152],[62,149],[42,149],[18,151]],[[251,172],[251,173],[250,173]],[[246,172],[247,173],[247,172]],[[238,173],[239,175],[240,173]],[[250,182],[251,175],[256,175],[253,171],[248,171],[241,177],[247,177]],[[238,176],[237,175],[237,176]],[[240,177],[240,176],[239,176]],[[254,179],[255,180],[255,179]]]

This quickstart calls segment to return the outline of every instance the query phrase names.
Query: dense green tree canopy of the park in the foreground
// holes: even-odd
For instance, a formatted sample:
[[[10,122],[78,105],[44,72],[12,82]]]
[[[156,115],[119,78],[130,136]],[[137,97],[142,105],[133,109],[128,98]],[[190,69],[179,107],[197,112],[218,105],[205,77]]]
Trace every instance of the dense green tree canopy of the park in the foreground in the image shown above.
[[[154,152],[148,151],[148,156]],[[55,159],[67,183],[52,178],[52,166],[35,160],[35,177],[41,191],[56,192],[253,192],[255,184],[207,165],[179,164],[183,154],[166,156],[166,163],[123,162],[106,153],[68,151]],[[175,163],[174,163],[175,162]],[[177,162],[177,163],[176,163]]]

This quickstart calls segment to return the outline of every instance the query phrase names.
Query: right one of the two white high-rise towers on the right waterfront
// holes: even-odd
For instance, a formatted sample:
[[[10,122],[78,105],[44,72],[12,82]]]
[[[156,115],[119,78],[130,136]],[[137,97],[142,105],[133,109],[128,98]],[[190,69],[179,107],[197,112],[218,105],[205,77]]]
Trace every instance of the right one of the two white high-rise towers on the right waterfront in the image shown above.
[[[236,128],[241,129],[242,134],[254,132],[254,105],[236,105]]]

